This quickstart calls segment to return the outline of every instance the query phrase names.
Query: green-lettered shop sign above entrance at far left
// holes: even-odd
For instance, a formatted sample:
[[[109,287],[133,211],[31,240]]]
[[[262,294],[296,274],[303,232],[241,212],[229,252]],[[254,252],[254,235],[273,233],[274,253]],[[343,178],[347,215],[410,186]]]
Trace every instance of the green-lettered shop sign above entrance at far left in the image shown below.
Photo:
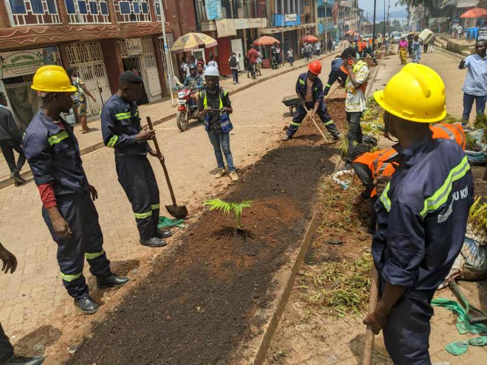
[[[0,79],[35,74],[44,65],[60,65],[57,47],[0,53]]]

